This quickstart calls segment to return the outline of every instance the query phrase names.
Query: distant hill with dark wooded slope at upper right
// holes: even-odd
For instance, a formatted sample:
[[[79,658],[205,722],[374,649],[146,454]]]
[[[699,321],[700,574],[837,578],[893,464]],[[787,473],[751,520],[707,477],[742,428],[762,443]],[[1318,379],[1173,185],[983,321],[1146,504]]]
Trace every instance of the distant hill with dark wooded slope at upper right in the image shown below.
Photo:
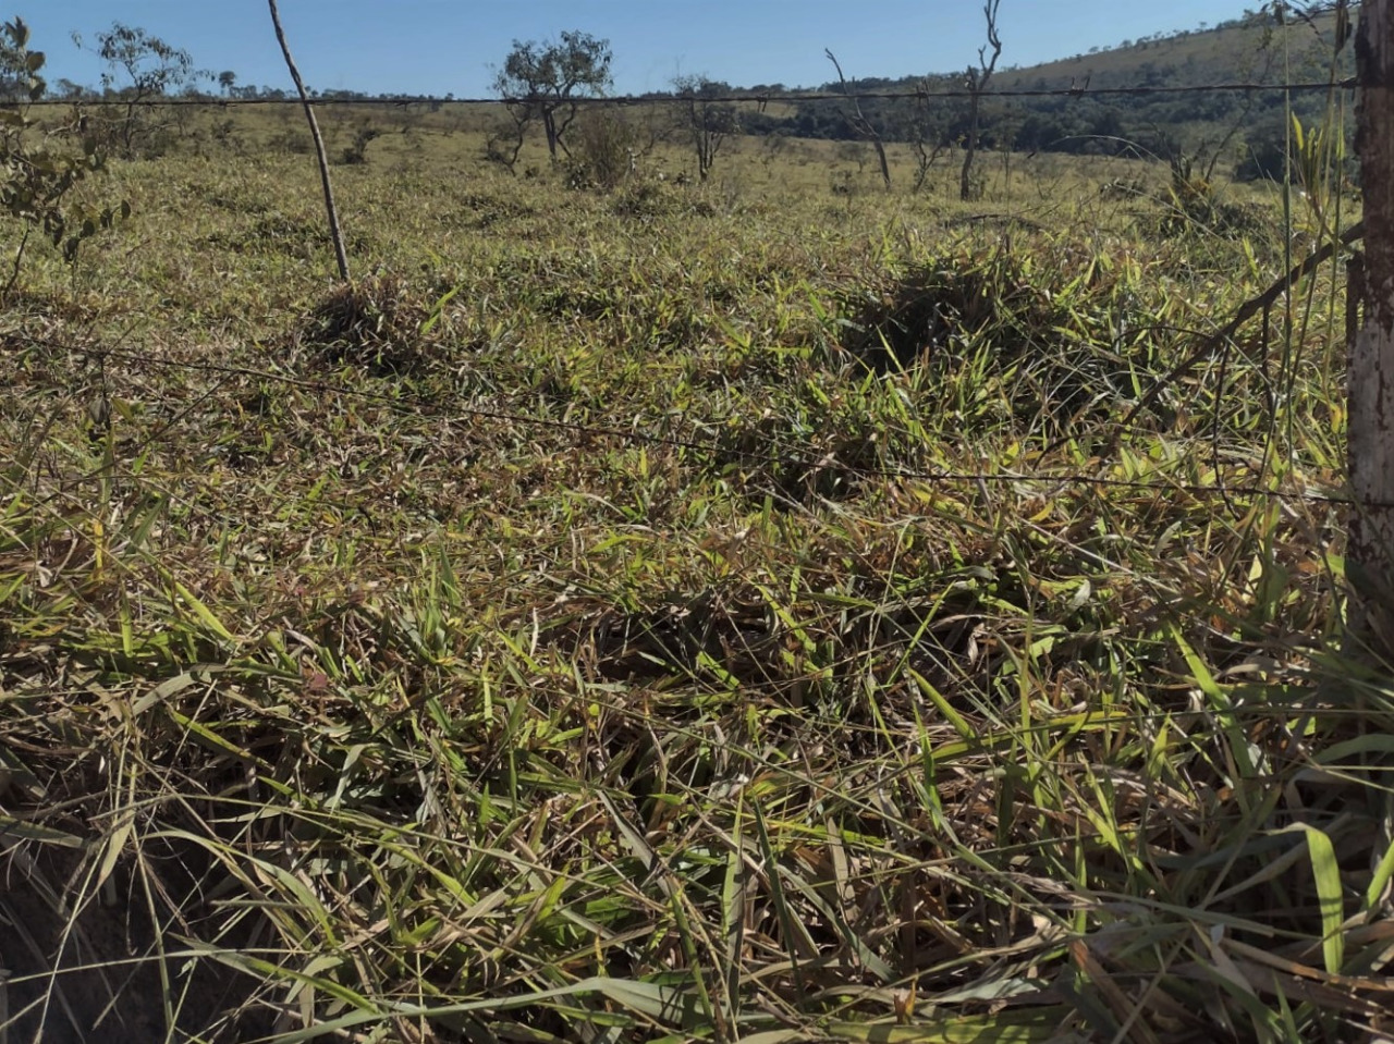
[[[1316,7],[1316,6],[1309,6]],[[1354,24],[1358,13],[1352,13]],[[1354,43],[1335,46],[1337,17],[1326,10],[1280,24],[1269,13],[1248,14],[1216,26],[1124,40],[1117,47],[1030,67],[1001,67],[990,91],[1073,89],[1072,95],[991,98],[983,106],[983,145],[1020,151],[1126,155],[1165,159],[1190,156],[1202,167],[1239,177],[1281,176],[1285,106],[1306,123],[1322,118],[1327,92],[1236,91],[1206,93],[1101,93],[1110,88],[1177,88],[1210,84],[1282,85],[1341,81],[1354,75]],[[1002,56],[1011,56],[1011,25],[1002,25]],[[965,56],[965,60],[976,57]],[[965,61],[966,64],[966,61]],[[853,92],[924,88],[962,89],[963,74],[870,78]],[[841,91],[836,82],[821,91]],[[1337,92],[1338,93],[1338,92]],[[889,141],[921,141],[928,148],[960,141],[967,103],[926,98],[919,102],[863,99],[863,112]],[[1347,106],[1349,107],[1349,106]],[[841,102],[796,102],[778,116],[751,114],[746,130],[811,138],[856,137]]]

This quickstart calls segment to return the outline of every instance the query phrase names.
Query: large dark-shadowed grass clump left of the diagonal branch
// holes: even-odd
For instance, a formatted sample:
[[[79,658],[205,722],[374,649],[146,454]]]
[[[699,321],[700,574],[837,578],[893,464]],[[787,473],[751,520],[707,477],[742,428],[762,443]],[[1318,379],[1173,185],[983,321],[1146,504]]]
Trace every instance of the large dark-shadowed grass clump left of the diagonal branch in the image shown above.
[[[852,304],[849,348],[973,428],[1047,436],[1112,415],[1157,368],[1175,301],[1126,241],[1008,236],[914,259]],[[1149,277],[1150,276],[1150,277]]]

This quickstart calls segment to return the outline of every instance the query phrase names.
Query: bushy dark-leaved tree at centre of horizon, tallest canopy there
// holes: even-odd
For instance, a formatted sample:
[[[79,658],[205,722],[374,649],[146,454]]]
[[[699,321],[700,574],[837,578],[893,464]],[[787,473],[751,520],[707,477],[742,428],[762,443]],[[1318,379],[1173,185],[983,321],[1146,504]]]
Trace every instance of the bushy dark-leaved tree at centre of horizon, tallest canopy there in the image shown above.
[[[558,40],[513,40],[513,50],[493,78],[493,89],[507,103],[519,144],[534,121],[546,132],[553,162],[566,148],[566,130],[581,99],[601,98],[613,82],[609,40],[588,32],[563,32]],[[513,149],[517,156],[517,149]]]

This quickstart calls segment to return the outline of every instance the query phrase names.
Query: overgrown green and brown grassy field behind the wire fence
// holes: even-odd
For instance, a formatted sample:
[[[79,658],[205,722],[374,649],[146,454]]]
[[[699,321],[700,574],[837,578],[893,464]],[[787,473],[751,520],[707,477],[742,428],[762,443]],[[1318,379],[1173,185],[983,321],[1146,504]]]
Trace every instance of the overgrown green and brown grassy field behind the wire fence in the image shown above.
[[[1121,428],[1309,213],[222,118],[0,323],[0,1040],[1394,1033],[1344,276]]]

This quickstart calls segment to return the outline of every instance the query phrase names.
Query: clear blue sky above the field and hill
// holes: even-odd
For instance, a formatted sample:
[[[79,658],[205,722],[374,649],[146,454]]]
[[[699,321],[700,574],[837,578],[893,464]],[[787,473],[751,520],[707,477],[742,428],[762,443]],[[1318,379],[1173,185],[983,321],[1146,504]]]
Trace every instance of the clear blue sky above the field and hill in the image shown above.
[[[737,86],[963,68],[983,43],[981,0],[279,0],[291,52],[314,88],[457,98],[487,95],[513,39],[563,29],[608,38],[619,93],[661,91],[677,74]],[[1259,0],[1001,0],[1001,64],[1030,66],[1093,46],[1218,22]],[[45,74],[98,84],[78,50],[113,20],[187,49],[238,84],[290,88],[263,0],[11,0],[49,56]]]

